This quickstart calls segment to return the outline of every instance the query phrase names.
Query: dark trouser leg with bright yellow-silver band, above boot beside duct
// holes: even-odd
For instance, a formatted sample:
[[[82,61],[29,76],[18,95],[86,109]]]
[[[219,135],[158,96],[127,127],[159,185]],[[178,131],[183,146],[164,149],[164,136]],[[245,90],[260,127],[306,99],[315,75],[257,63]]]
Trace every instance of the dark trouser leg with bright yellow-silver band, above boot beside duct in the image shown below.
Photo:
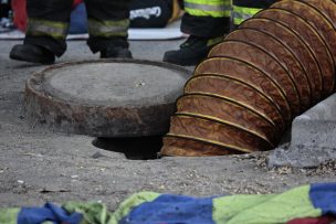
[[[181,31],[217,38],[230,31],[231,0],[185,0]]]

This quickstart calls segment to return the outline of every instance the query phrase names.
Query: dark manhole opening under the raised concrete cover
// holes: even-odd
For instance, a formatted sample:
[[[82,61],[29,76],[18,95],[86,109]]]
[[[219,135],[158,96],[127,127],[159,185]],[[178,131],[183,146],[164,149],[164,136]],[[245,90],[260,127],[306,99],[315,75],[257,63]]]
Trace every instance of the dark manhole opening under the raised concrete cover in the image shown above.
[[[154,160],[159,159],[162,137],[95,138],[92,143],[107,151],[122,152],[129,160]]]

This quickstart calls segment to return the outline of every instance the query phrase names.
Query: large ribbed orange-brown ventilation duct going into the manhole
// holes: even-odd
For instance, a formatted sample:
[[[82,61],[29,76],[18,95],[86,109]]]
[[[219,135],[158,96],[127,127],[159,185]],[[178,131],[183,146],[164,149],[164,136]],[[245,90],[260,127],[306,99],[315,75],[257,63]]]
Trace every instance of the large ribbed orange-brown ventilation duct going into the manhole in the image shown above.
[[[187,82],[164,156],[274,148],[293,118],[334,93],[335,0],[283,0],[216,45]]]

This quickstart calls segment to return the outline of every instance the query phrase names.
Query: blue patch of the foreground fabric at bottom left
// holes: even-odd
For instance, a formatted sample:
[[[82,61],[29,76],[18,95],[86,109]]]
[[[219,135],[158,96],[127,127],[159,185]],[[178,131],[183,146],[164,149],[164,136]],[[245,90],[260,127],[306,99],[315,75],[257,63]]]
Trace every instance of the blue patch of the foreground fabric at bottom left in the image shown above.
[[[43,207],[22,207],[18,214],[18,224],[40,224],[45,221],[54,224],[80,224],[82,214],[67,214],[65,210],[51,203],[45,203]]]

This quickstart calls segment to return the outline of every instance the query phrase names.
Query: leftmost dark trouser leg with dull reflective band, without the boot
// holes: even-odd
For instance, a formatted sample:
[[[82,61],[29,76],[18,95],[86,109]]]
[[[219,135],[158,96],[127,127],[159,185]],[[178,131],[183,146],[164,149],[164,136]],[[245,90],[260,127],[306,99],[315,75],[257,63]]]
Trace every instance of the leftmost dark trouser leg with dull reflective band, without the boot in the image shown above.
[[[27,0],[24,43],[43,46],[61,56],[65,50],[72,0]]]

